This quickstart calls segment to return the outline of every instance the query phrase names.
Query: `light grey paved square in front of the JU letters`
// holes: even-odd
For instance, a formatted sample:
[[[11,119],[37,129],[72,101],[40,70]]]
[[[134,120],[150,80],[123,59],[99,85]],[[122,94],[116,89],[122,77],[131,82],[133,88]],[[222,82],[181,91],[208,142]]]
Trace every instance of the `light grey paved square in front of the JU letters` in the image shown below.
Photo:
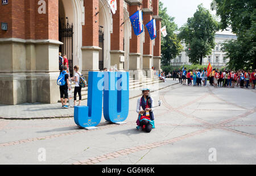
[[[0,119],[0,164],[256,164],[255,93],[183,85],[155,91],[163,105],[150,133],[135,129],[137,98],[126,124],[102,116],[92,131],[73,118]]]

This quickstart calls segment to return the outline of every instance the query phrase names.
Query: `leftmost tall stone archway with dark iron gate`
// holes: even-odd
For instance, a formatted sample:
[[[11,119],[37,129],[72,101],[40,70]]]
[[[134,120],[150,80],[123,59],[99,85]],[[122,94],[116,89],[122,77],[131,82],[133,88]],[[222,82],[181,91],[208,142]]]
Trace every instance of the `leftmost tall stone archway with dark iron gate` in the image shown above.
[[[82,70],[83,5],[83,0],[59,0],[59,40],[63,43],[60,52],[67,55],[71,70],[74,65],[79,65]]]

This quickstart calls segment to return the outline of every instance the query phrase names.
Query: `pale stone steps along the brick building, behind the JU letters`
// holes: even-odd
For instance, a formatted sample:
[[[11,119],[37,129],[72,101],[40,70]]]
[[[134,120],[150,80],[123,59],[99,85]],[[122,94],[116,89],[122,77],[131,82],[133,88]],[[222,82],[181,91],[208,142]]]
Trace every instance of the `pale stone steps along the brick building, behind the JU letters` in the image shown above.
[[[134,89],[139,89],[139,87],[143,87],[143,86],[150,86],[150,85],[154,85],[155,83],[158,82],[162,82],[159,80],[158,77],[155,77],[154,80],[152,80],[151,78],[147,78],[146,76],[142,77],[142,81],[139,82],[136,79],[133,78],[129,78],[129,89],[130,90],[134,90]],[[74,94],[74,90],[75,90],[75,83],[72,82],[72,93]],[[81,90],[81,94],[82,94],[82,100],[87,99],[88,97],[88,87],[82,88]],[[77,101],[79,100],[79,95],[77,94]],[[60,99],[58,100],[58,102],[61,102]]]

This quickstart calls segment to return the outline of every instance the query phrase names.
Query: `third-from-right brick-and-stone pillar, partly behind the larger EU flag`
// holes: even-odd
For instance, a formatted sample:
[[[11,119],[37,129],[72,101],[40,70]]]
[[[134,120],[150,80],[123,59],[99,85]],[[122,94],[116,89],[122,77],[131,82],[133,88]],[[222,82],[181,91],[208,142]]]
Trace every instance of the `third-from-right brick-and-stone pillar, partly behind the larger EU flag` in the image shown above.
[[[139,10],[139,6],[141,5],[140,1],[133,2],[130,4],[129,13],[133,15],[137,10]],[[132,29],[131,31],[131,39],[130,39],[130,76],[135,79],[142,81],[142,70],[141,70],[141,35],[136,36]]]

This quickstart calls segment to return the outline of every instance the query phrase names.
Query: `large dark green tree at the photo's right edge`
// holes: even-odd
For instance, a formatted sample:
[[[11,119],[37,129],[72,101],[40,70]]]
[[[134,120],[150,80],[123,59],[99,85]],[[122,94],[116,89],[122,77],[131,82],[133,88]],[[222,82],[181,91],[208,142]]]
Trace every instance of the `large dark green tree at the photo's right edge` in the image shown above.
[[[231,28],[237,40],[223,45],[229,58],[230,69],[256,68],[256,1],[215,0],[222,30]]]

